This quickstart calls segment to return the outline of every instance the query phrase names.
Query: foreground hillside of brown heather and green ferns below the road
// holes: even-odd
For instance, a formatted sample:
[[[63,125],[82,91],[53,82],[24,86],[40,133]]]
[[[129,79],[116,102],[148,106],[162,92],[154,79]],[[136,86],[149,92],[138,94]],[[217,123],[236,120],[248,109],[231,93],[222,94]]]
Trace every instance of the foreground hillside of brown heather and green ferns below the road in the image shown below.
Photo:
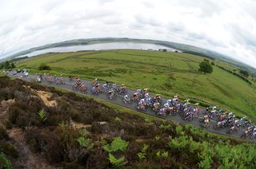
[[[85,96],[7,77],[0,77],[0,93],[0,151],[14,168],[256,165],[255,143],[119,112]]]

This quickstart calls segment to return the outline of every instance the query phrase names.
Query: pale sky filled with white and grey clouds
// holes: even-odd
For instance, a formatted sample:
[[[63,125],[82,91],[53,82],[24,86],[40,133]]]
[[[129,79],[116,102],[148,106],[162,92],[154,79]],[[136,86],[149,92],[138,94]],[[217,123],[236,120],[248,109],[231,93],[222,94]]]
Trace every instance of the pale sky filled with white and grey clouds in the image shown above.
[[[255,0],[0,0],[0,58],[58,41],[130,37],[195,45],[256,68]]]

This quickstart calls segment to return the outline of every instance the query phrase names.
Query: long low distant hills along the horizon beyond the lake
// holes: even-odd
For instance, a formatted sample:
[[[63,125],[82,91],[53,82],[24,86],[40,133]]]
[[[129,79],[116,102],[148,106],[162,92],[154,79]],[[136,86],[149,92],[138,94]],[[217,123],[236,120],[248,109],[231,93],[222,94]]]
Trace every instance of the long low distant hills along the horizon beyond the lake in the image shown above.
[[[88,38],[88,39],[74,39],[70,41],[61,41],[57,43],[51,43],[47,45],[38,46],[35,48],[27,49],[19,53],[15,53],[9,57],[3,58],[1,61],[6,61],[13,59],[15,57],[19,57],[28,53],[32,53],[37,50],[42,49],[50,49],[50,48],[56,48],[56,47],[65,47],[65,46],[72,46],[72,45],[91,45],[91,44],[99,44],[99,43],[107,43],[107,42],[140,42],[140,43],[148,43],[148,44],[155,44],[155,45],[163,45],[166,47],[170,47],[173,49],[181,50],[184,53],[191,53],[202,57],[208,57],[210,59],[218,58],[222,61],[226,61],[230,65],[235,65],[240,69],[245,69],[250,74],[254,75],[256,77],[256,69],[251,67],[250,65],[243,64],[240,61],[235,60],[232,57],[228,57],[226,55],[223,55],[221,53],[216,53],[214,51],[211,51],[209,49],[202,49],[195,47],[193,45],[184,45],[180,43],[170,42],[170,41],[157,41],[157,40],[150,40],[150,39],[134,39],[134,38],[114,38],[114,37],[103,37],[103,38]]]

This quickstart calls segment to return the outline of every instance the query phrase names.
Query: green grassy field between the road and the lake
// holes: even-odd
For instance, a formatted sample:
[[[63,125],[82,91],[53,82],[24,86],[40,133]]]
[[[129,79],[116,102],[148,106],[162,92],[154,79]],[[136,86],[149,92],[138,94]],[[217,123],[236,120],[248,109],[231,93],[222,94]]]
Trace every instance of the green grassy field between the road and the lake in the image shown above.
[[[198,73],[203,57],[186,53],[145,50],[102,50],[76,53],[50,53],[18,61],[18,68],[38,73],[38,65],[50,65],[49,73],[80,76],[118,84],[129,88],[150,88],[164,96],[178,94],[182,98],[205,100],[236,114],[256,118],[256,85],[214,66],[212,74]],[[215,64],[228,68],[222,61]],[[233,68],[232,68],[233,69]]]

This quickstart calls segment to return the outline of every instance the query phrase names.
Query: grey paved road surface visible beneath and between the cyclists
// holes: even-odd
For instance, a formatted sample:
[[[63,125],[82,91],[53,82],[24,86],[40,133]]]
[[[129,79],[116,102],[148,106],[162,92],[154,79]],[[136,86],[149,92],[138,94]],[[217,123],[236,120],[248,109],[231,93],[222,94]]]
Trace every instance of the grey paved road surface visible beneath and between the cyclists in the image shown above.
[[[11,73],[9,73],[9,76],[10,77],[14,77],[14,78],[19,78],[19,79],[22,79],[24,81],[35,81],[35,75],[29,75],[28,77],[22,77],[22,73],[18,73],[16,75],[12,75]],[[65,81],[66,81],[66,84],[65,85],[55,85],[54,83],[52,84],[49,84],[47,83],[46,81],[42,81],[42,85],[50,85],[50,86],[54,86],[54,87],[59,87],[59,88],[64,88],[66,90],[69,90],[69,91],[72,91],[72,92],[78,92],[78,91],[74,91],[72,89],[72,83],[70,83],[70,80],[69,78],[65,77],[64,78]],[[90,84],[91,84],[91,81],[87,81],[87,80],[82,80],[86,83],[86,87],[88,89],[88,93],[87,95],[90,95],[90,96],[95,96],[95,97],[98,97],[102,100],[107,100],[113,104],[118,104],[118,105],[121,105],[123,107],[126,107],[126,108],[130,108],[130,109],[133,109],[135,111],[138,111],[136,108],[135,108],[135,103],[132,103],[132,104],[124,104],[122,102],[122,96],[117,96],[114,100],[110,100],[108,98],[108,96],[106,95],[106,93],[102,93],[102,94],[99,94],[98,96],[90,93]],[[134,93],[133,90],[130,90],[128,89],[128,95],[129,96],[132,96],[132,94]],[[162,98],[163,100],[163,103],[166,103],[166,98]],[[186,121],[186,120],[182,120],[181,116],[158,116],[160,118],[163,118],[163,119],[166,119],[166,120],[173,120],[174,122],[178,122],[179,124],[192,124],[192,126],[194,127],[197,127],[197,128],[201,128],[200,127],[200,122],[199,120],[202,119],[202,112],[205,112],[205,109],[204,108],[200,108],[200,113],[199,113],[199,117],[198,118],[194,118],[193,121],[189,122],[189,121]],[[146,112],[140,112],[138,111],[138,113],[145,113],[145,114],[148,114],[148,115],[151,115],[151,116],[157,116],[155,115],[155,113],[151,110],[146,110]],[[218,133],[218,134],[222,134],[222,135],[226,135],[226,136],[234,136],[234,137],[237,137],[237,138],[240,138],[240,136],[242,136],[242,133],[245,131],[245,128],[241,128],[238,132],[235,132],[233,133],[232,135],[230,134],[227,134],[226,132],[229,130],[229,128],[222,128],[222,129],[214,129],[213,126],[214,124],[216,124],[216,119],[213,119],[210,121],[210,128],[204,128],[210,132],[215,132],[215,133]],[[250,139],[246,139],[246,140],[250,140]],[[256,141],[256,140],[250,140],[250,141]]]

